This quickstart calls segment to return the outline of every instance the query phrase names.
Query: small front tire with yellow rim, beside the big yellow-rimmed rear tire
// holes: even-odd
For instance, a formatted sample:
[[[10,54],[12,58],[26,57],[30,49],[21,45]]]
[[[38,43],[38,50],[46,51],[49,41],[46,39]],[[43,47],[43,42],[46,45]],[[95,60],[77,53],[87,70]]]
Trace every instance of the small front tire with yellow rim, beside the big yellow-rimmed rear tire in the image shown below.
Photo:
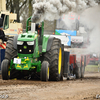
[[[47,61],[43,61],[41,67],[41,81],[49,80],[49,63]]]

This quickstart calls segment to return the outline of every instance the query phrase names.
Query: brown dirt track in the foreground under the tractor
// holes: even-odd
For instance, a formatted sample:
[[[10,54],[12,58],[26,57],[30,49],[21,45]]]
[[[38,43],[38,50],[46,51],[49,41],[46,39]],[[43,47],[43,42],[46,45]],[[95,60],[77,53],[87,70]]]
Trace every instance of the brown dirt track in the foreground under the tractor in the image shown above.
[[[60,82],[0,79],[0,95],[8,95],[7,100],[96,100],[97,94],[100,73],[86,73],[84,79]]]

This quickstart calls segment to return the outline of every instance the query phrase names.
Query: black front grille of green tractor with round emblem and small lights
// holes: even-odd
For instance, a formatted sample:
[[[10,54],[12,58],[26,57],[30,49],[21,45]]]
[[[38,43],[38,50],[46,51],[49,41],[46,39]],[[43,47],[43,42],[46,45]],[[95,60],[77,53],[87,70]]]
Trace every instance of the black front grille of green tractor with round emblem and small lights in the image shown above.
[[[23,45],[17,45],[18,53],[21,54],[32,54],[34,52],[34,45],[27,45],[27,42],[24,42]]]

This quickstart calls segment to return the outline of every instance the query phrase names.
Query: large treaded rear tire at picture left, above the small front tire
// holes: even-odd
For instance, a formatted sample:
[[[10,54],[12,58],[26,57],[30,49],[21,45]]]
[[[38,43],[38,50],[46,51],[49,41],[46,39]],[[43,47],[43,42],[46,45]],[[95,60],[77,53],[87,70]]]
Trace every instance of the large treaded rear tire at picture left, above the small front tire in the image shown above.
[[[13,46],[14,37],[10,37],[7,41],[6,50],[5,50],[5,59],[11,61],[14,57],[17,57],[17,50]]]

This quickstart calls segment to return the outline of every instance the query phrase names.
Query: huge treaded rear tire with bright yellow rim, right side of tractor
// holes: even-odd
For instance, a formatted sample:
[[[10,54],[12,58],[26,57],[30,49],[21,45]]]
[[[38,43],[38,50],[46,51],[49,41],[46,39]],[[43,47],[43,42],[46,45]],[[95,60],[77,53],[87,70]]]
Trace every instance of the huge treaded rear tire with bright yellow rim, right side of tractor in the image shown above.
[[[62,46],[60,39],[53,39],[51,49],[44,54],[44,60],[50,64],[49,80],[59,81],[62,75]]]

